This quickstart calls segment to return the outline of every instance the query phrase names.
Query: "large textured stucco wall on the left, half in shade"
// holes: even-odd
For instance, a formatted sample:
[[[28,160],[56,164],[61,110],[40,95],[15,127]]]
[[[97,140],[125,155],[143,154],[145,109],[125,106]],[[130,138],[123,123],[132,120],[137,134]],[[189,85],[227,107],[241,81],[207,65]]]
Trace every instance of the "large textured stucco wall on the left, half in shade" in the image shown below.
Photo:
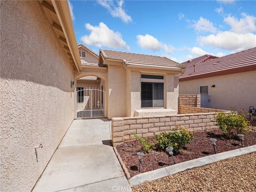
[[[1,191],[33,188],[73,121],[71,80],[41,5],[1,1]]]

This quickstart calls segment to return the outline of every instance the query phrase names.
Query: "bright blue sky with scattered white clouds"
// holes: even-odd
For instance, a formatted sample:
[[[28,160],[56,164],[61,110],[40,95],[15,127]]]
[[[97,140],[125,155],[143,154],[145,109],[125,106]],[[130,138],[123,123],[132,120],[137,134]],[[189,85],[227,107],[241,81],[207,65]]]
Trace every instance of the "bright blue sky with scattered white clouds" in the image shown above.
[[[256,47],[256,1],[69,1],[77,43],[184,62]]]

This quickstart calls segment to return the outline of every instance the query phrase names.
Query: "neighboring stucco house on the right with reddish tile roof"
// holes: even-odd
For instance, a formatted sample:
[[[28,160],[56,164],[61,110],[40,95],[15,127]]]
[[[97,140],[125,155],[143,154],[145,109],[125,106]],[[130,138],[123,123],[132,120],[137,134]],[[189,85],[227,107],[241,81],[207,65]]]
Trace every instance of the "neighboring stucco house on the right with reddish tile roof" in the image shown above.
[[[179,78],[180,94],[209,95],[205,100],[209,108],[246,111],[250,106],[256,108],[256,48],[221,58],[201,59],[182,63],[187,68]],[[199,62],[191,65],[195,60]]]

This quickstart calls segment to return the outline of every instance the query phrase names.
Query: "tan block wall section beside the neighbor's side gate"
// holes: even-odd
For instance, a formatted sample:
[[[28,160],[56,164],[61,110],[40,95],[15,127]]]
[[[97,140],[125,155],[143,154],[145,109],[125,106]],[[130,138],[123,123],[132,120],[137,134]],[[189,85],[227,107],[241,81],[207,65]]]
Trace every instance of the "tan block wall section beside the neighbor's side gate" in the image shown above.
[[[199,94],[180,94],[179,95],[179,105],[200,107],[201,105],[201,95]]]

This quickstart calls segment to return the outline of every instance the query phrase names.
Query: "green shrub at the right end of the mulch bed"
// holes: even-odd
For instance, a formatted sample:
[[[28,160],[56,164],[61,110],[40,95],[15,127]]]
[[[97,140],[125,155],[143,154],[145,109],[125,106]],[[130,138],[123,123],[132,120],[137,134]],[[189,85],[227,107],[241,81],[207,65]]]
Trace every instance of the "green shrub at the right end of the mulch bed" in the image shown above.
[[[245,118],[244,111],[239,113],[231,111],[231,114],[219,112],[216,123],[223,133],[229,137],[234,137],[237,134],[247,134],[250,125],[250,122]]]

